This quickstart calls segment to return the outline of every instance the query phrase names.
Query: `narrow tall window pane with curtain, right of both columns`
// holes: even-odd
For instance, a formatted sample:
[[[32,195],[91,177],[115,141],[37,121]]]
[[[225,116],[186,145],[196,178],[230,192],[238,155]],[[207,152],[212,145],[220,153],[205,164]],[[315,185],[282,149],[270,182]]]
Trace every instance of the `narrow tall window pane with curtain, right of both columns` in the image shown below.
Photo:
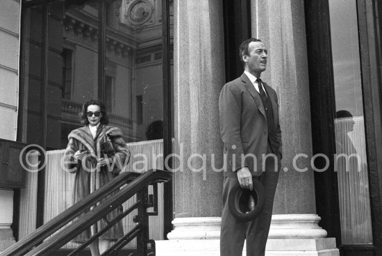
[[[329,0],[329,13],[342,244],[367,244],[372,225],[356,0]]]

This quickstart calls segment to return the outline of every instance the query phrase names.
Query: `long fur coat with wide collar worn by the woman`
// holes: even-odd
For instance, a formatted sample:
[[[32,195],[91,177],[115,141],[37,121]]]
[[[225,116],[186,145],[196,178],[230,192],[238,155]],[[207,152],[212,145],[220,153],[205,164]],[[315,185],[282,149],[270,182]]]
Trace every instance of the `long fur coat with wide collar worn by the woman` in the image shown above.
[[[99,145],[102,141],[105,141],[106,134],[110,134],[112,137],[111,142],[113,143],[115,154],[110,157],[113,159],[113,163],[107,166],[97,167],[97,159],[103,157],[100,154]],[[69,143],[65,150],[64,160],[67,171],[76,174],[73,190],[74,203],[82,200],[100,186],[110,182],[110,180],[113,179],[113,175],[119,173],[130,159],[130,151],[122,138],[122,131],[117,127],[101,124],[97,129],[95,138],[93,138],[89,127],[85,126],[73,130],[69,134],[68,139]],[[87,156],[84,157],[82,161],[74,160],[74,153],[77,152],[77,150],[88,151]],[[113,194],[110,196],[113,196]],[[118,209],[115,209],[108,214],[107,219],[112,220],[117,214],[119,214]],[[74,241],[84,242],[88,240],[94,232],[101,230],[106,224],[105,219],[101,219],[97,225],[79,234]],[[116,240],[122,236],[122,223],[119,222],[99,238]]]

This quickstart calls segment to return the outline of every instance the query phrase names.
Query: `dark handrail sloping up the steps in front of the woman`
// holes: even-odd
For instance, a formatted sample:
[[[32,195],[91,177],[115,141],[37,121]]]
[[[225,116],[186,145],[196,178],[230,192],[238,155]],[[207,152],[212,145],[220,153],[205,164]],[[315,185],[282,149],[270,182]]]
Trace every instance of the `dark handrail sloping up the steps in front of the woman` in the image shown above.
[[[172,179],[172,173],[165,170],[149,170],[142,174],[122,173],[118,177],[115,177],[115,179],[112,181],[108,182],[108,184],[101,186],[101,188],[97,189],[97,191],[94,191],[94,193],[91,193],[80,202],[77,202],[72,207],[69,207],[69,209],[66,211],[63,211],[62,214],[59,214],[48,223],[39,227],[38,230],[35,230],[24,239],[18,241],[10,248],[4,250],[0,255],[47,255],[52,250],[58,250],[63,245],[65,245],[65,243],[74,239],[74,237],[94,225],[94,223],[97,223],[99,219],[106,216],[110,211],[113,211],[113,209],[122,205],[123,202],[131,198],[136,193],[138,193],[137,202],[135,205],[124,211],[122,215],[126,216],[133,209],[138,209],[138,221],[136,222],[138,223],[137,226],[139,226],[140,229],[138,234],[135,235],[138,235],[138,240],[140,240],[140,244],[138,243],[138,246],[142,246],[144,243],[146,243],[146,248],[144,251],[147,251],[147,243],[152,243],[152,241],[149,241],[148,239],[147,217],[149,214],[147,214],[146,209],[150,206],[150,203],[148,202],[149,196],[147,195],[147,186],[150,184],[156,184],[158,182],[167,182],[170,179]],[[124,186],[126,183],[128,184]],[[121,186],[124,187],[119,190]],[[111,193],[114,193],[113,196],[106,198]],[[94,206],[101,200],[102,202],[99,205],[94,207],[91,211],[83,214],[85,211],[90,209],[90,207]],[[81,214],[83,215],[80,216]],[[47,239],[47,237],[59,230],[64,225],[67,225],[76,217],[78,217],[76,221],[73,221],[71,224],[65,227],[65,229],[60,230],[60,232],[57,232],[52,237]],[[119,216],[117,218],[123,217]],[[117,218],[116,220],[110,221],[110,224],[113,224],[114,222],[116,223],[119,220]],[[88,241],[87,243],[91,243],[91,241],[97,239],[97,237],[101,235],[101,232],[104,232],[104,230],[101,230],[93,237],[91,237],[90,242]],[[139,237],[142,235],[143,237]],[[44,241],[44,239],[47,240]],[[142,239],[144,240],[143,242]],[[117,241],[117,243],[118,242],[119,241]],[[41,244],[39,245],[39,243]],[[119,242],[119,244],[120,243],[121,242]],[[126,241],[124,244],[126,244]],[[29,250],[31,251],[28,252]],[[103,255],[108,255],[108,252],[111,253],[111,251],[107,251]]]

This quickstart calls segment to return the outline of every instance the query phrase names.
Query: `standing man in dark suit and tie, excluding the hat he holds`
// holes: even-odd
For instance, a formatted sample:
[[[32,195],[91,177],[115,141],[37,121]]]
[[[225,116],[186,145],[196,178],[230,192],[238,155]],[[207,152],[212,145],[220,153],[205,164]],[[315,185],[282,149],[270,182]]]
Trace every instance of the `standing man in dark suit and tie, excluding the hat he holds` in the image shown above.
[[[272,218],[274,194],[281,161],[279,104],[274,89],[260,80],[267,66],[267,49],[256,38],[240,45],[244,73],[226,83],[219,97],[220,133],[228,160],[224,171],[220,255],[265,255]],[[265,207],[254,221],[240,222],[231,215],[228,195],[239,182],[253,189],[253,177],[265,187]]]

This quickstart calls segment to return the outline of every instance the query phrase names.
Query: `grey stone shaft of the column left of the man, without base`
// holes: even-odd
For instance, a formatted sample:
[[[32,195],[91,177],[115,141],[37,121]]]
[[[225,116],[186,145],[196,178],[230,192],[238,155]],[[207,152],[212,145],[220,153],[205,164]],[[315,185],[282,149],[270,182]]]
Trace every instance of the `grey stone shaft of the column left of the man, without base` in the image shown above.
[[[174,218],[221,216],[224,85],[222,3],[174,1]],[[180,166],[179,166],[180,165]]]

